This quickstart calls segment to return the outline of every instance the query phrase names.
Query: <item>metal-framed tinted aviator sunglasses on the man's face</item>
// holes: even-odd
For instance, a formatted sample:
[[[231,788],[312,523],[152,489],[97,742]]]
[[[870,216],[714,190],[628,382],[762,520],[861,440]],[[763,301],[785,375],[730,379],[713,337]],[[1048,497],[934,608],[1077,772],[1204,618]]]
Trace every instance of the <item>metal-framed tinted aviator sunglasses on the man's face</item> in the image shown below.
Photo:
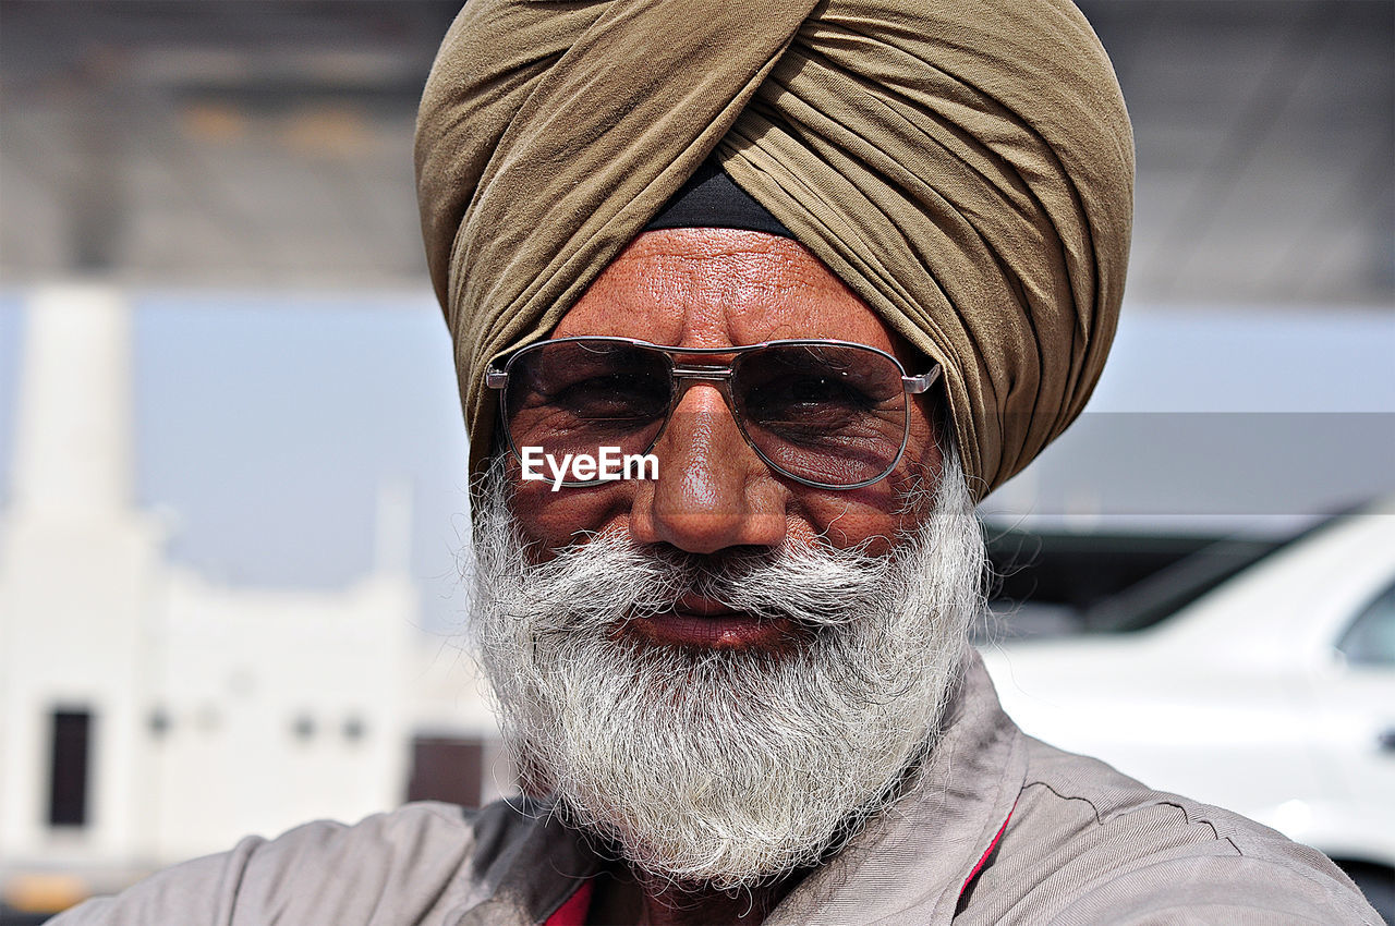
[[[686,384],[709,382],[771,470],[815,488],[852,489],[896,469],[910,437],[908,396],[926,392],[939,375],[936,365],[908,377],[891,354],[841,340],[661,347],[582,336],[523,347],[488,370],[484,382],[499,390],[509,450],[520,459],[523,448],[558,460],[596,459],[601,448],[647,455]]]

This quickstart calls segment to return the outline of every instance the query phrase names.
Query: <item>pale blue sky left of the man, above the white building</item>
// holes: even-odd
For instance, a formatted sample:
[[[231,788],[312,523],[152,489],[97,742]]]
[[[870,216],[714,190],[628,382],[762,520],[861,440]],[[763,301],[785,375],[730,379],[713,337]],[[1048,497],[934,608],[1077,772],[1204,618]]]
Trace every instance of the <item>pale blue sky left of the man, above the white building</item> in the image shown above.
[[[0,297],[0,485],[17,303]],[[237,586],[340,587],[371,569],[379,489],[406,485],[425,621],[458,621],[467,445],[430,291],[152,293],[133,305],[134,498],[169,523],[173,559]]]

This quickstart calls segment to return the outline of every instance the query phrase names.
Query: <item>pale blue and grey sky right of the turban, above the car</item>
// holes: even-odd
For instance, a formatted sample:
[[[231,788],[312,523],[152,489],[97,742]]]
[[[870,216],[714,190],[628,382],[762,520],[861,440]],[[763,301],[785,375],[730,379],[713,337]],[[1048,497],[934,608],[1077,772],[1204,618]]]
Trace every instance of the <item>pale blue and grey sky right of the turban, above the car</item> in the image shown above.
[[[1126,304],[1081,418],[988,499],[1036,529],[1283,534],[1395,491],[1395,315]]]

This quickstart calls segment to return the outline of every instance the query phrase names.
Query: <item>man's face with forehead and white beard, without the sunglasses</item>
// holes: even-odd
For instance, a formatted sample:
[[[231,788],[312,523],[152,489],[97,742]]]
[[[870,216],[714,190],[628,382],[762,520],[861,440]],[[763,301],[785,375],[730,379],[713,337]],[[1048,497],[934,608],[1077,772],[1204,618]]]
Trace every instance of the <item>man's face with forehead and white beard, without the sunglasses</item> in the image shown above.
[[[925,363],[801,245],[755,232],[642,236],[555,331],[575,335],[829,337]],[[816,862],[933,742],[982,540],[919,403],[901,462],[852,491],[771,471],[707,382],[654,453],[657,480],[558,492],[495,460],[480,661],[565,819],[660,879],[751,886]]]

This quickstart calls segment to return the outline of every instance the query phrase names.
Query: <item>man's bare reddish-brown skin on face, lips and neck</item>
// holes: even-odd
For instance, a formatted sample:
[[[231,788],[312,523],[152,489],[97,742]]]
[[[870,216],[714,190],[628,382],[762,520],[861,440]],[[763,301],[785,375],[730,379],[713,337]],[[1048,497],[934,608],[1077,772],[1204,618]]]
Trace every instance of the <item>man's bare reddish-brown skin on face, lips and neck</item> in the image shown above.
[[[552,337],[614,335],[656,344],[728,347],[781,337],[831,337],[886,350],[911,374],[919,357],[804,245],[760,232],[671,229],[639,236],[562,318]],[[773,473],[742,439],[720,390],[692,384],[654,446],[658,478],[604,483],[552,492],[523,481],[513,463],[513,513],[531,555],[621,533],[706,556],[783,542],[865,545],[884,552],[915,529],[923,510],[904,503],[919,484],[933,488],[940,455],[928,403],[911,404],[910,442],[896,470],[862,489],[831,491]],[[702,601],[677,619],[711,619]],[[739,623],[739,615],[727,615]],[[663,628],[650,640],[663,644]],[[749,636],[749,635],[748,635]],[[713,646],[757,646],[739,633]],[[732,898],[674,891],[624,869],[598,879],[591,922],[753,923],[794,887],[798,876]]]

